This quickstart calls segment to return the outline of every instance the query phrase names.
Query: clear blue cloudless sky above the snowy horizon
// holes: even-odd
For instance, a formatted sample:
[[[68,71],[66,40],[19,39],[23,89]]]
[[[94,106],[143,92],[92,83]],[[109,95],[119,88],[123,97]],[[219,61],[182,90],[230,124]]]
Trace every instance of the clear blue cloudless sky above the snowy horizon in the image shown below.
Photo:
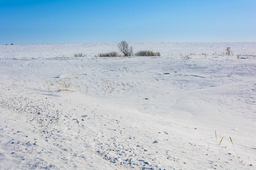
[[[256,41],[256,0],[0,0],[0,44]]]

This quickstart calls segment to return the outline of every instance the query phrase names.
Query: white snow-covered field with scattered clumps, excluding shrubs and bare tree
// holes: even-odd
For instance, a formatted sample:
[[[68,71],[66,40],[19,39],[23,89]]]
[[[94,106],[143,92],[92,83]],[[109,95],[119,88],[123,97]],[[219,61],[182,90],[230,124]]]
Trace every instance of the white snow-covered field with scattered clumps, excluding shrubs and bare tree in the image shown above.
[[[256,42],[130,45],[0,45],[0,169],[255,169]]]

